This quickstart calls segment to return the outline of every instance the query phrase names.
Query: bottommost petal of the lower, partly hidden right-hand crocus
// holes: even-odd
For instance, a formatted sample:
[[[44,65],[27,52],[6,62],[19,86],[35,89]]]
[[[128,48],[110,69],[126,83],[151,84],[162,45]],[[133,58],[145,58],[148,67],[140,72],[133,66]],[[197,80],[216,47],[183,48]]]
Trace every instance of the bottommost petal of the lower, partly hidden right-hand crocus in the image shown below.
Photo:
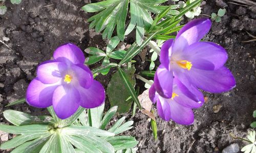
[[[181,106],[178,103],[169,103],[170,118],[178,124],[189,125],[194,122],[194,113],[190,108]]]

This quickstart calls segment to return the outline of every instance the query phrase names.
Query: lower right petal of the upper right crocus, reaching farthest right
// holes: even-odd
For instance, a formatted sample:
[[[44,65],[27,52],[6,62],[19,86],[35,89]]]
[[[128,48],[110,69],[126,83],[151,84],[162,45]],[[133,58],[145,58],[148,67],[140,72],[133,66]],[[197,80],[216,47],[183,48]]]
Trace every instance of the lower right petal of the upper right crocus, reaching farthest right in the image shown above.
[[[196,87],[213,93],[228,91],[236,86],[232,73],[225,66],[212,71],[191,69],[186,77]]]

